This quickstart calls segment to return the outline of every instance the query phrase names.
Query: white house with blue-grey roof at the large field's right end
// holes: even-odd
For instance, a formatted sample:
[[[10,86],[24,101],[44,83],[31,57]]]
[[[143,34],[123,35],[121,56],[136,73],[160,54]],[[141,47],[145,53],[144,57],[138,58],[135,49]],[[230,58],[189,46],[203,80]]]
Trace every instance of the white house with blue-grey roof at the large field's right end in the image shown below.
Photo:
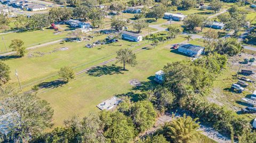
[[[181,44],[178,51],[189,56],[199,56],[203,54],[204,47],[192,45],[192,44]]]

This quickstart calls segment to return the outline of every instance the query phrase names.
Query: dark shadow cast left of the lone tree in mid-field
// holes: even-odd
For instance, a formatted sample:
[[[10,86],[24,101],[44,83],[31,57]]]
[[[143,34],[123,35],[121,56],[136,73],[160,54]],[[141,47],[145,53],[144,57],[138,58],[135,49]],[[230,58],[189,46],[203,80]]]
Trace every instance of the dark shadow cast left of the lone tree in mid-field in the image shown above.
[[[101,75],[112,75],[112,74],[123,74],[121,66],[112,65],[102,65],[96,66],[86,73],[93,77],[100,77]]]

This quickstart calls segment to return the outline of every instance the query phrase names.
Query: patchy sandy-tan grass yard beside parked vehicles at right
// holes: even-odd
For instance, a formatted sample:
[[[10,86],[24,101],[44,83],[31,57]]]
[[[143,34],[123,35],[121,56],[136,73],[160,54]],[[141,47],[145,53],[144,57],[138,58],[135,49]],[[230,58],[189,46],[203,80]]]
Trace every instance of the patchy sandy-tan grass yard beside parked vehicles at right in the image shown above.
[[[241,108],[248,106],[241,101],[241,98],[250,98],[254,88],[254,83],[249,83],[249,86],[245,88],[242,94],[237,94],[236,92],[230,91],[230,86],[232,83],[236,83],[238,79],[233,75],[236,74],[238,66],[231,66],[224,70],[222,74],[213,82],[213,89],[210,92],[207,99],[210,102],[218,104],[220,106],[225,106],[229,110],[237,111],[237,114],[246,117],[247,119],[254,119],[255,114],[242,114]]]

